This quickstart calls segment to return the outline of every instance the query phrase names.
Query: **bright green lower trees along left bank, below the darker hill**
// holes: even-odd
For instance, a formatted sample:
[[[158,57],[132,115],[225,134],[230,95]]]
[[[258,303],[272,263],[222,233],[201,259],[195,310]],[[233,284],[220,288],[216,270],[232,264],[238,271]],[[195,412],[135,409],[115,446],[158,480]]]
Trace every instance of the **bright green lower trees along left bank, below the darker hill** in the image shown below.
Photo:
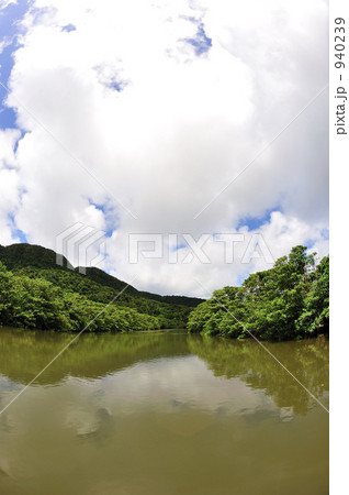
[[[105,307],[41,277],[9,272],[0,262],[0,323],[42,330],[80,331]],[[151,330],[161,327],[154,316],[109,306],[88,331]]]

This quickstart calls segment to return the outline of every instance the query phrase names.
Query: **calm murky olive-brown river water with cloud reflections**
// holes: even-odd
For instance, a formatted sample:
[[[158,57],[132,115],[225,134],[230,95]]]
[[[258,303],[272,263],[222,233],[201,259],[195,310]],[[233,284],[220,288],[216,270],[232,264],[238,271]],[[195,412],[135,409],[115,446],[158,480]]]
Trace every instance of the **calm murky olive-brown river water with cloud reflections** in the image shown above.
[[[0,329],[0,409],[71,336]],[[328,408],[328,342],[268,343]],[[328,493],[328,414],[256,342],[81,336],[0,415],[0,494]]]

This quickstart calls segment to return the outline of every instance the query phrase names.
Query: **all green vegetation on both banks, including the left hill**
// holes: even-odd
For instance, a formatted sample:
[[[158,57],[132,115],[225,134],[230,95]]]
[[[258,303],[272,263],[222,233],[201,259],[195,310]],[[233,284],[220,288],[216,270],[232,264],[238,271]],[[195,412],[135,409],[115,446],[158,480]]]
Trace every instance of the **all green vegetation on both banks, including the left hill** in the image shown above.
[[[299,245],[273,268],[250,275],[241,287],[216,290],[203,302],[130,286],[87,330],[187,326],[190,333],[244,338],[251,332],[263,340],[302,339],[328,332],[328,256],[316,265],[315,255]],[[78,332],[125,286],[99,268],[87,268],[81,275],[65,258],[64,266],[58,266],[52,250],[30,244],[0,246],[3,326]]]

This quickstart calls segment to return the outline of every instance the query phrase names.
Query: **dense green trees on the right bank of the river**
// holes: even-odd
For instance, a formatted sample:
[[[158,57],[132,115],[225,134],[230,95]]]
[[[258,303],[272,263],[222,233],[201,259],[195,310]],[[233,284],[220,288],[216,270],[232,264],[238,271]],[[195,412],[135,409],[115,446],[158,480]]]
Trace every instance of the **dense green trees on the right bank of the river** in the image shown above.
[[[189,332],[232,338],[292,340],[329,329],[329,257],[297,245],[273,268],[250,275],[241,287],[225,287],[189,316]]]

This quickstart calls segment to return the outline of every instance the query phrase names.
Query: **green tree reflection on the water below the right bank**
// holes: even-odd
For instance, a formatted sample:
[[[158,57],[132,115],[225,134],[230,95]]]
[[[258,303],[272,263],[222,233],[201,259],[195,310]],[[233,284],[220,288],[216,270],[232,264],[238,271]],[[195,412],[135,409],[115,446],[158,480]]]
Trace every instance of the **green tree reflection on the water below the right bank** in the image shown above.
[[[301,342],[264,343],[274,356],[296,376],[312,394],[325,396],[328,407],[328,341],[324,338]],[[215,376],[240,377],[251,388],[261,388],[278,407],[293,407],[305,414],[314,400],[254,340],[189,339],[189,349],[203,359]]]

